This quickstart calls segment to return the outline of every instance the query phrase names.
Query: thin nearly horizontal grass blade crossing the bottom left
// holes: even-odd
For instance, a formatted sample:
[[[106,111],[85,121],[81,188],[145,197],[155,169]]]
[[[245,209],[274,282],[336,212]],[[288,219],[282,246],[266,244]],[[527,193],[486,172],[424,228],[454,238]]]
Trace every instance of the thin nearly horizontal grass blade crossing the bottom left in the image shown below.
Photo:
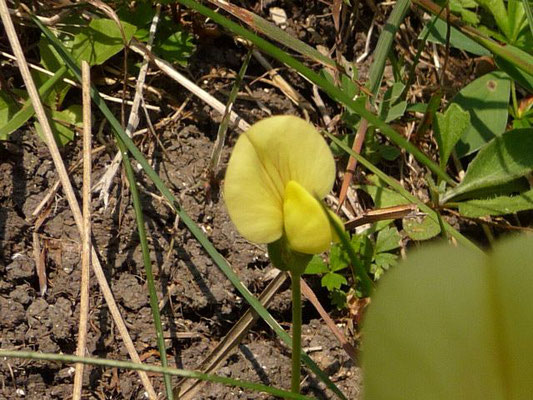
[[[94,357],[77,357],[67,354],[55,354],[55,353],[40,353],[36,351],[13,351],[13,350],[0,350],[0,357],[7,358],[24,358],[28,360],[42,360],[53,361],[59,363],[82,363],[86,365],[97,365],[104,368],[121,368],[128,370],[138,370],[153,372],[156,374],[166,374],[172,376],[181,376],[186,378],[200,379],[208,382],[222,383],[224,385],[236,386],[243,389],[250,389],[257,392],[268,393],[272,396],[282,397],[284,399],[295,400],[313,400],[311,397],[303,396],[300,394],[294,394],[285,390],[273,388],[259,383],[253,383],[248,381],[241,381],[238,379],[226,378],[225,376],[203,374],[201,372],[189,371],[186,369],[178,368],[164,368],[156,365],[136,364],[130,361],[108,360],[105,358]]]

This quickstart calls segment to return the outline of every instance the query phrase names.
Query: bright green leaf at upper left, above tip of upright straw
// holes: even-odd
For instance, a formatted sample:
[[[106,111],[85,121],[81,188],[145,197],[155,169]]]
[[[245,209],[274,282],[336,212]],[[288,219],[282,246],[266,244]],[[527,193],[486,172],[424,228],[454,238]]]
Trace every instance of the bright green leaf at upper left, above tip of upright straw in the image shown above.
[[[122,22],[126,40],[135,33],[135,26]],[[74,37],[72,54],[76,60],[85,60],[90,65],[103,64],[124,48],[120,29],[115,21],[106,18],[93,19]]]

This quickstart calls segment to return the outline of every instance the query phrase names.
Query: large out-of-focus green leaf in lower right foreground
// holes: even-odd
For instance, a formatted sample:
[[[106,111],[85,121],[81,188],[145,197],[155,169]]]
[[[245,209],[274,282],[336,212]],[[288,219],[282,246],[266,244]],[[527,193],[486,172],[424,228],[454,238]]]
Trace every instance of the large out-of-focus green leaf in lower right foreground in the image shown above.
[[[489,255],[450,245],[409,254],[363,325],[366,400],[528,400],[533,393],[533,240]]]

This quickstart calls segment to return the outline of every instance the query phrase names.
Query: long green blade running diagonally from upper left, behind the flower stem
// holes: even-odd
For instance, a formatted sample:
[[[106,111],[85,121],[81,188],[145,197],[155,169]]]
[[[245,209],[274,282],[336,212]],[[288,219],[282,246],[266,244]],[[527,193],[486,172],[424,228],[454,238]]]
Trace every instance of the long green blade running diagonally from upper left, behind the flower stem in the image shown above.
[[[79,66],[76,61],[72,58],[71,54],[63,47],[62,43],[54,36],[54,34],[42,24],[42,22],[32,16],[33,22],[41,29],[43,34],[47,37],[50,43],[54,46],[58,54],[63,58],[63,61],[67,64],[72,73],[76,76],[78,80],[81,80],[81,73]],[[94,104],[100,108],[100,111],[107,118],[109,124],[113,128],[117,141],[122,141],[126,146],[127,150],[131,155],[139,162],[144,172],[155,184],[157,189],[161,194],[167,199],[167,201],[174,208],[175,212],[179,215],[181,222],[190,230],[198,242],[202,245],[204,250],[209,254],[221,271],[226,275],[230,280],[233,286],[241,293],[241,295],[246,299],[251,307],[265,320],[265,322],[276,332],[276,334],[285,342],[289,347],[292,346],[292,340],[290,335],[285,332],[285,330],[279,325],[279,323],[270,315],[270,313],[261,305],[261,303],[250,293],[248,288],[242,284],[239,277],[235,274],[230,265],[226,262],[224,257],[216,250],[213,244],[209,241],[207,236],[204,235],[202,230],[196,225],[196,223],[189,217],[187,212],[183,210],[172,194],[172,192],[167,188],[161,178],[157,175],[154,169],[148,164],[142,153],[135,146],[131,138],[129,138],[124,132],[120,122],[115,118],[111,110],[107,107],[105,102],[102,100],[98,91],[93,86],[91,89],[91,98],[93,99]],[[302,359],[304,363],[313,371],[317,377],[322,380],[329,389],[331,389],[339,398],[346,399],[344,394],[339,390],[339,388],[327,377],[327,375],[315,364],[311,358],[302,353]]]

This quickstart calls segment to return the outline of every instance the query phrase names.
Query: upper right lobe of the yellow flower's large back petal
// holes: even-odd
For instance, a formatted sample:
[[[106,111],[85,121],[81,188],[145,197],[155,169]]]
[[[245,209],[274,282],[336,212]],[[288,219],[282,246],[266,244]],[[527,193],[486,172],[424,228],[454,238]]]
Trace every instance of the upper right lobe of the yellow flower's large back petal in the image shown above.
[[[282,196],[291,180],[320,198],[331,191],[335,161],[326,141],[310,123],[278,115],[257,122],[245,134]]]

